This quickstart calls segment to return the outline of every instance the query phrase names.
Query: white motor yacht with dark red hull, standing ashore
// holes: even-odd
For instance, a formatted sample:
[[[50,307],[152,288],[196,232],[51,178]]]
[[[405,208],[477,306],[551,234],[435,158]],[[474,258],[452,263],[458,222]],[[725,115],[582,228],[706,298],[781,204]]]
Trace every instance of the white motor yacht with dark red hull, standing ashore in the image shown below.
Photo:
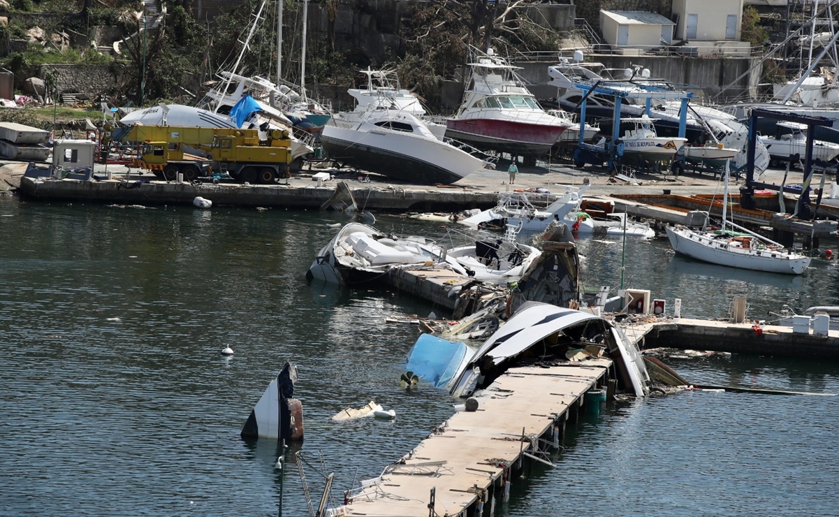
[[[478,149],[524,157],[547,154],[571,121],[550,115],[510,65],[492,49],[471,47],[472,69],[461,107],[446,119],[446,136]]]

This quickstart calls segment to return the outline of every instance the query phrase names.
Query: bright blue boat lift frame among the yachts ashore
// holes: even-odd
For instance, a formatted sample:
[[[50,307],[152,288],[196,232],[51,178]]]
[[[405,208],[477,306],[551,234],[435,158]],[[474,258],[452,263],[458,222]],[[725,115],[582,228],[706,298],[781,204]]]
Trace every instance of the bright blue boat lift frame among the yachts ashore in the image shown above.
[[[653,86],[638,84],[631,81],[597,81],[593,85],[581,82],[569,81],[569,87],[576,88],[585,92],[580,103],[580,120],[586,120],[586,102],[592,93],[597,93],[607,97],[614,97],[614,108],[612,118],[614,123],[612,125],[612,141],[607,143],[605,147],[597,145],[586,144],[583,140],[584,134],[580,132],[580,140],[574,150],[574,164],[577,167],[582,167],[586,163],[602,164],[607,160],[607,170],[612,172],[616,169],[616,162],[623,156],[623,144],[620,141],[621,136],[621,104],[623,99],[644,99],[646,103],[645,112],[650,118],[654,118],[652,113],[653,99],[679,99],[681,101],[680,118],[679,118],[679,137],[685,137],[685,129],[687,128],[687,104],[693,93],[690,91],[676,91],[664,86]],[[621,85],[623,87],[612,87]]]

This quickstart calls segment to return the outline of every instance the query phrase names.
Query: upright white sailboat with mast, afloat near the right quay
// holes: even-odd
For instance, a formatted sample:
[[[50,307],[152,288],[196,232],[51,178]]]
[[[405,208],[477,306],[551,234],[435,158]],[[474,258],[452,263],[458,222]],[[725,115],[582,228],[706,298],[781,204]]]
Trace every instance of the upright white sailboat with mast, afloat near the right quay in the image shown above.
[[[717,231],[689,227],[667,227],[667,238],[676,253],[711,264],[769,273],[802,274],[810,266],[810,257],[784,248],[768,238],[727,221],[728,170],[722,203],[722,228]],[[729,228],[735,228],[737,232]]]

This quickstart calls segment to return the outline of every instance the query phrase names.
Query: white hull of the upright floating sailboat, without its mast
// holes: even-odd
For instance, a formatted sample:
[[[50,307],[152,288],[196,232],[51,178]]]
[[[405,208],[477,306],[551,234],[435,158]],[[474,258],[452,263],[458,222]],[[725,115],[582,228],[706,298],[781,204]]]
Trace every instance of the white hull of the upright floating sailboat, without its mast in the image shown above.
[[[809,257],[786,250],[740,248],[725,238],[717,239],[688,228],[667,227],[665,230],[670,246],[677,253],[711,264],[781,274],[802,274],[810,266]]]

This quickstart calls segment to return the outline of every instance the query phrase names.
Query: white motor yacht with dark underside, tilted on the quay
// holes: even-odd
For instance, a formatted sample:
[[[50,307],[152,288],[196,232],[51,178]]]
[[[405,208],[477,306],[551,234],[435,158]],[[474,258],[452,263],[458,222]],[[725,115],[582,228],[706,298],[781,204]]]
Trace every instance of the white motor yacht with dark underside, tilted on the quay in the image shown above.
[[[391,109],[373,109],[349,127],[328,123],[320,143],[338,163],[420,185],[448,185],[492,167],[440,141],[414,115]]]

